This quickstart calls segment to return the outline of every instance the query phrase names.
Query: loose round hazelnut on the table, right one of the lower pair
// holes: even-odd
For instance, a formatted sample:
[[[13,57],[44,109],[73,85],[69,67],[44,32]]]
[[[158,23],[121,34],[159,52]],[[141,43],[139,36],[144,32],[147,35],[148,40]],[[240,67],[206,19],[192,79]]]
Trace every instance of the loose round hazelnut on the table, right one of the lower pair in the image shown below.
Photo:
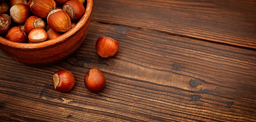
[[[105,86],[105,77],[99,69],[90,69],[84,78],[85,87],[91,92],[99,92]]]

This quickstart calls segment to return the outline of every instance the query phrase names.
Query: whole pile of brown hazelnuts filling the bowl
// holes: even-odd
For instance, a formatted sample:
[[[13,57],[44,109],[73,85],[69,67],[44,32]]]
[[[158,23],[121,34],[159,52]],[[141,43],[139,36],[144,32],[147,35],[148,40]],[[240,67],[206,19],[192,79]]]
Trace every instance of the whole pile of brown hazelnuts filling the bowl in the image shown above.
[[[83,2],[0,0],[0,35],[6,34],[7,40],[19,43],[52,40],[76,25],[85,13]]]

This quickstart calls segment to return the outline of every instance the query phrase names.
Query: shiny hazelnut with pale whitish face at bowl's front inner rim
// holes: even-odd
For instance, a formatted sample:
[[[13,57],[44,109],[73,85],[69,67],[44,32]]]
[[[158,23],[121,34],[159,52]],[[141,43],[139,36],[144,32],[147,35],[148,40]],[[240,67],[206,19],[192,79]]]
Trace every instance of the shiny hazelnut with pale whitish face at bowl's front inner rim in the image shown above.
[[[29,38],[29,42],[38,43],[38,42],[46,41],[48,36],[44,29],[36,28],[29,32],[28,38]]]

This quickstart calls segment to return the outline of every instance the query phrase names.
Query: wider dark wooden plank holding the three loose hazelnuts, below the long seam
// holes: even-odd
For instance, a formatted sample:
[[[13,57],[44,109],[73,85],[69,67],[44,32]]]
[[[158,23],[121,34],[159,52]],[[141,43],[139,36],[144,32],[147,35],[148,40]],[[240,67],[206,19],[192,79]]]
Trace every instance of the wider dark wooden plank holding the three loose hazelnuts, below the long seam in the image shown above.
[[[119,41],[115,57],[95,53],[99,36]],[[92,22],[79,50],[49,67],[27,67],[0,52],[1,120],[256,121],[252,49]],[[91,68],[106,77],[98,94],[83,84]],[[76,78],[68,93],[54,90],[52,75],[59,69]]]

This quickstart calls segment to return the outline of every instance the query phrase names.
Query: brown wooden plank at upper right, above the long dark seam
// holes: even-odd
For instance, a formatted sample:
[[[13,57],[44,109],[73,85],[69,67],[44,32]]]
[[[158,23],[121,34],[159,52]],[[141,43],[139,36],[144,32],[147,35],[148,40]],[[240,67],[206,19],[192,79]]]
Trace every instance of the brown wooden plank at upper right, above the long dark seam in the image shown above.
[[[255,0],[95,0],[92,20],[256,49]]]

